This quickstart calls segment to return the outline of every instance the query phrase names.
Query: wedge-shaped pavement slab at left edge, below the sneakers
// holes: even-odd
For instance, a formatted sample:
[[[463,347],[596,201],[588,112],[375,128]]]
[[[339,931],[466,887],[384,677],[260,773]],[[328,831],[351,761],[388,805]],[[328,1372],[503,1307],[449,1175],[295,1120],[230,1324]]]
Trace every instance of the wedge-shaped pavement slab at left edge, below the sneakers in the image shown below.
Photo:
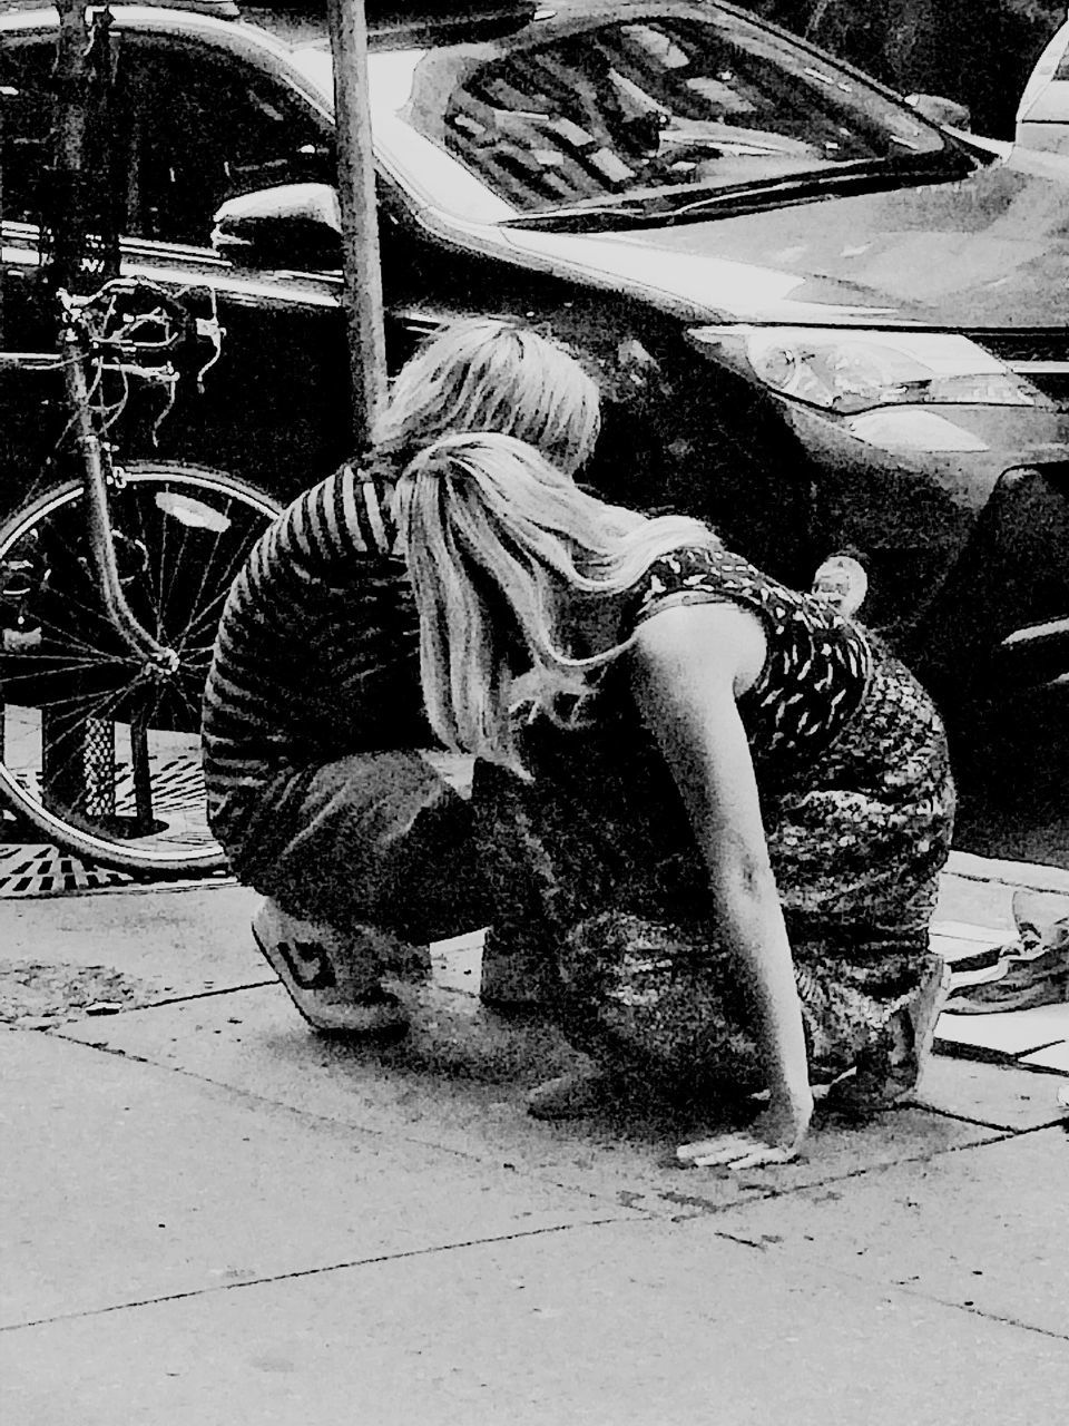
[[[48,1034],[0,1078],[0,1326],[630,1214]]]

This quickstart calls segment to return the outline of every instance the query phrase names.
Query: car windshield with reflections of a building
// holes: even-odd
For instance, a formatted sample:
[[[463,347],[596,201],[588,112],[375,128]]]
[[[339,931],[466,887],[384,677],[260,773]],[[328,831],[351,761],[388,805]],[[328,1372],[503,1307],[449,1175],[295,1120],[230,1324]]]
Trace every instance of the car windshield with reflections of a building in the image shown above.
[[[469,217],[490,215],[472,202],[476,187],[500,217],[643,197],[663,205],[671,191],[686,201],[929,161],[948,147],[902,101],[787,36],[687,3],[559,23],[547,11],[490,43],[378,56],[371,87],[376,133],[408,130],[401,148],[420,184]],[[435,174],[430,145],[466,181],[450,180],[453,164]]]

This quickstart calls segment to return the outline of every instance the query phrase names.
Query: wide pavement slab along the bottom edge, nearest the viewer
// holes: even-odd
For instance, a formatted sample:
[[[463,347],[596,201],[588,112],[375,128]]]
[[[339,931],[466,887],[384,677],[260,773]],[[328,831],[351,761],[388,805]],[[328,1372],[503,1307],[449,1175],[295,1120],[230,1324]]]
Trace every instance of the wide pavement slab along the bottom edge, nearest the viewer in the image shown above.
[[[633,1221],[0,1333],[0,1375],[19,1426],[1043,1426],[1069,1346]]]

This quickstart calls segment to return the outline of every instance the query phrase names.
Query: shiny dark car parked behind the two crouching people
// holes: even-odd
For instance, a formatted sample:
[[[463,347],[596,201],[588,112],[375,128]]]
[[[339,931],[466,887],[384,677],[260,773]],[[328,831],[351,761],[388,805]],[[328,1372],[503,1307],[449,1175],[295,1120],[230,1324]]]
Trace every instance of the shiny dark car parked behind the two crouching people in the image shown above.
[[[386,339],[523,315],[600,371],[587,479],[714,522],[944,692],[1069,670],[1069,167],[941,130],[730,6],[371,10]],[[4,342],[41,312],[54,11],[0,16]],[[227,329],[165,455],[289,496],[346,451],[332,67],[315,14],[115,9],[107,143],[128,272]],[[95,150],[100,150],[97,153]],[[3,376],[3,493],[63,428]],[[34,385],[34,382],[37,385]]]

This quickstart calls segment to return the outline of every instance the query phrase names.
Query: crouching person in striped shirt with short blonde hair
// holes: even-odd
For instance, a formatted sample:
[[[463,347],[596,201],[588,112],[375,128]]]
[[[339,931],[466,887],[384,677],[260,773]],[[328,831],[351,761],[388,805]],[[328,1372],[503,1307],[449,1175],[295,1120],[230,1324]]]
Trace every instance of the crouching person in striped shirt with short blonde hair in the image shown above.
[[[368,461],[298,496],[229,590],[204,696],[208,817],[267,897],[254,937],[315,1030],[402,1032],[383,975],[419,974],[429,940],[492,913],[470,804],[419,752],[435,739],[393,483],[456,431],[515,435],[572,475],[599,425],[563,347],[453,322],[398,374]]]

